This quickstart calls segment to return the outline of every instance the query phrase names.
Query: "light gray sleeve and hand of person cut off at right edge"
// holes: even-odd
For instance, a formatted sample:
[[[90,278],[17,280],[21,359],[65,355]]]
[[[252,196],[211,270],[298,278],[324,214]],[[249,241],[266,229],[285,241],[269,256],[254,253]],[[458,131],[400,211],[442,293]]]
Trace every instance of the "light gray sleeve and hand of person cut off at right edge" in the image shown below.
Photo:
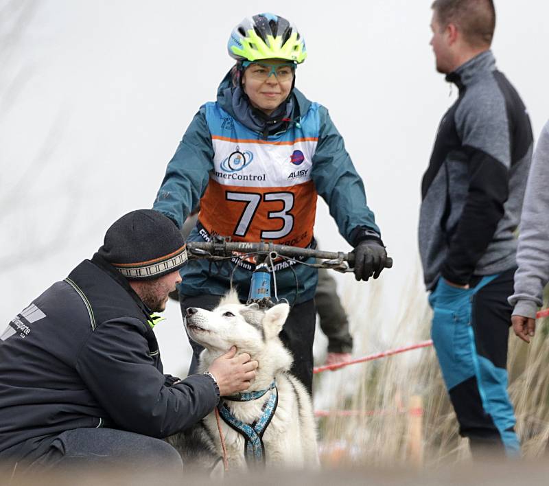
[[[541,131],[530,167],[520,221],[515,273],[513,331],[526,343],[534,336],[537,308],[549,281],[549,122]]]

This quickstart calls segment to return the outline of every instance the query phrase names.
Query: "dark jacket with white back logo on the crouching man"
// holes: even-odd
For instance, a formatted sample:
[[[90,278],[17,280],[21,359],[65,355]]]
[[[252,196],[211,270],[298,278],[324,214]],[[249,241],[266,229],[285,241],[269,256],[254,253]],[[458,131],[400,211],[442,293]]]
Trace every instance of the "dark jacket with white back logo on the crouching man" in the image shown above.
[[[218,403],[208,375],[172,385],[150,313],[95,255],[0,330],[0,458],[32,460],[81,427],[167,437]]]

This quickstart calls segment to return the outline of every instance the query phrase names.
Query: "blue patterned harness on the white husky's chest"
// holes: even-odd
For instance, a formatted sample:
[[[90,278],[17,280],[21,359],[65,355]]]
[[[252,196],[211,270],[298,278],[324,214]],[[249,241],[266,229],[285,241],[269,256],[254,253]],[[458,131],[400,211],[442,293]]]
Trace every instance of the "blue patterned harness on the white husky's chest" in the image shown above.
[[[253,421],[252,424],[244,424],[243,421],[235,418],[229,410],[224,400],[230,400],[233,402],[250,402],[251,400],[257,400],[270,391],[269,399],[263,404],[261,408],[261,415],[258,419]],[[248,465],[265,463],[265,446],[263,443],[263,435],[270,424],[274,410],[277,410],[279,402],[279,394],[277,390],[277,382],[273,380],[268,389],[252,391],[249,393],[238,393],[237,395],[231,395],[230,397],[224,397],[224,400],[218,405],[218,410],[221,418],[225,423],[236,430],[240,435],[244,436],[244,457]]]

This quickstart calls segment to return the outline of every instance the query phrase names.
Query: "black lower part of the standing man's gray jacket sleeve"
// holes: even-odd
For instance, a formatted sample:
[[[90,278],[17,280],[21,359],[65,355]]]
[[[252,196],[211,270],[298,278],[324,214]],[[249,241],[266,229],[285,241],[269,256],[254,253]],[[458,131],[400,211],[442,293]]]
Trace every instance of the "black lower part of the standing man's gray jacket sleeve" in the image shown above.
[[[465,149],[469,155],[467,200],[441,270],[445,279],[461,285],[469,283],[504,215],[509,196],[507,168],[482,150]]]

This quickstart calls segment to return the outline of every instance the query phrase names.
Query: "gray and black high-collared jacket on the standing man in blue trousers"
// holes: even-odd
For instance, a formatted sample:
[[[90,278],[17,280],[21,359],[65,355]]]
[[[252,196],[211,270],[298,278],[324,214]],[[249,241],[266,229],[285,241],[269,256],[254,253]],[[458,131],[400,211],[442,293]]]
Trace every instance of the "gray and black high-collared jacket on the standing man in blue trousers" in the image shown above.
[[[465,285],[515,266],[532,130],[517,91],[484,51],[450,73],[459,96],[439,126],[421,186],[425,285]]]

